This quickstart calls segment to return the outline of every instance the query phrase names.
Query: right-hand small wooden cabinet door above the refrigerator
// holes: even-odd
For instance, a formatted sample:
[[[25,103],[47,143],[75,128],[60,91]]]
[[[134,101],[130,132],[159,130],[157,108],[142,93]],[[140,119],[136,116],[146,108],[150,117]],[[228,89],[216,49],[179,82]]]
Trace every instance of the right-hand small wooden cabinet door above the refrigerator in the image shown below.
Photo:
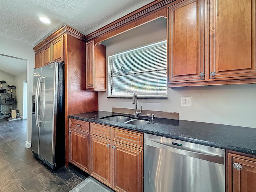
[[[63,36],[52,42],[52,61],[62,62],[64,61],[63,54]]]

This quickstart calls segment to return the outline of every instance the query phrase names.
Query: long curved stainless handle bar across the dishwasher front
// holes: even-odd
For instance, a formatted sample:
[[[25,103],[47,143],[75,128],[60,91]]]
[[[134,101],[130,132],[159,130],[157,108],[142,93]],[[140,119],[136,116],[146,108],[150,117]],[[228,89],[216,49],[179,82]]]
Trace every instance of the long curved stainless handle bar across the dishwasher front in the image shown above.
[[[177,148],[173,148],[171,146],[168,146],[168,145],[165,145],[162,143],[152,141],[147,138],[144,138],[144,144],[152,146],[152,147],[160,148],[163,150],[167,150],[170,152],[174,152],[174,153],[182,154],[185,156],[190,156],[190,157],[194,157],[194,158],[198,158],[198,159],[202,159],[202,160],[206,160],[206,161],[210,161],[210,162],[214,162],[214,163],[218,163],[218,164],[222,164],[222,165],[224,165],[224,163],[225,163],[224,156],[200,153],[200,152],[195,152],[195,151],[188,151],[188,150],[184,150],[184,149],[177,149]]]

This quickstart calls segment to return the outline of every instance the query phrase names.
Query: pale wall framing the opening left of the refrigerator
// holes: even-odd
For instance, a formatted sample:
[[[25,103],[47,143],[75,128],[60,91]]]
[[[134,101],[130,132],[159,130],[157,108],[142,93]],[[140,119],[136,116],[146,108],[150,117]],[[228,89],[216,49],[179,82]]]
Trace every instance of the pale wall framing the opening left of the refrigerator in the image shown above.
[[[32,123],[32,93],[33,93],[33,70],[35,66],[35,54],[33,46],[0,36],[0,54],[22,58],[27,60],[27,140],[31,142]]]

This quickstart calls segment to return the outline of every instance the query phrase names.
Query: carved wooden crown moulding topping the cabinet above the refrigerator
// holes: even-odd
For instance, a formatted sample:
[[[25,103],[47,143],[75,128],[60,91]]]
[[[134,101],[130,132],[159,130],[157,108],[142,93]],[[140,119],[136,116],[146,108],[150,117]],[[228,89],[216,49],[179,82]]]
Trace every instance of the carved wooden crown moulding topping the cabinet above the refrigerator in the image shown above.
[[[86,37],[82,33],[77,32],[76,30],[70,28],[69,26],[64,25],[61,28],[59,28],[58,30],[56,30],[56,32],[54,32],[53,34],[48,36],[46,39],[44,39],[42,42],[40,42],[38,45],[34,46],[34,48],[33,48],[34,51],[37,52],[44,45],[56,40],[57,38],[59,38],[60,36],[62,36],[63,34],[66,34],[66,33],[86,42]]]

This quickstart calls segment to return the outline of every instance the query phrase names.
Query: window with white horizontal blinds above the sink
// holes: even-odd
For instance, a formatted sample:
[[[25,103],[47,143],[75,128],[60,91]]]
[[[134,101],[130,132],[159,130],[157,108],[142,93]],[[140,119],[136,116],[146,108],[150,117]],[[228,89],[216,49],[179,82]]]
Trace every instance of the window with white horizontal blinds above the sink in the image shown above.
[[[108,56],[108,97],[167,97],[166,40]]]

